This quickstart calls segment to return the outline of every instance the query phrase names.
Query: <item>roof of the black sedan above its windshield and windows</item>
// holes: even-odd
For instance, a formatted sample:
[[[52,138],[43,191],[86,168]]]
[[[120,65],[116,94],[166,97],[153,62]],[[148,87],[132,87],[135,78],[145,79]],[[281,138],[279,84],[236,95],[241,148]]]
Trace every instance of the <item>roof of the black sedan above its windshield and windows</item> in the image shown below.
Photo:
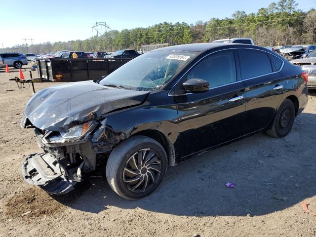
[[[212,48],[227,48],[227,47],[240,47],[243,48],[260,48],[263,47],[251,45],[251,44],[243,44],[243,43],[189,43],[189,44],[181,44],[175,46],[169,46],[164,48],[154,49],[153,51],[187,51],[187,52],[202,52]],[[268,50],[268,49],[267,49]]]

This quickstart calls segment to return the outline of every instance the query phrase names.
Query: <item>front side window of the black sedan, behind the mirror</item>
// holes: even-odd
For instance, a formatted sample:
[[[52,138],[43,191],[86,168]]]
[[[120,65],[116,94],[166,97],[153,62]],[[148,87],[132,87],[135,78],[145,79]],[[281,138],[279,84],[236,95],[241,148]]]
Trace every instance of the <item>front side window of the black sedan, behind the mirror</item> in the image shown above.
[[[206,57],[187,74],[187,79],[193,78],[207,80],[210,88],[236,81],[234,52],[220,52]]]

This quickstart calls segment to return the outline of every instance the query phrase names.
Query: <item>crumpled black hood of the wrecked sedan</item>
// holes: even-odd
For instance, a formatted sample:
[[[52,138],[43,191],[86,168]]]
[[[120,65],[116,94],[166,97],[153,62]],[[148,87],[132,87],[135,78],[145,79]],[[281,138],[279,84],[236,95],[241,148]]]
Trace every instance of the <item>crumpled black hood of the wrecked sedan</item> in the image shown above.
[[[48,87],[28,101],[21,121],[26,118],[42,130],[66,131],[87,120],[113,110],[144,102],[149,91],[110,88],[90,81],[72,82]]]

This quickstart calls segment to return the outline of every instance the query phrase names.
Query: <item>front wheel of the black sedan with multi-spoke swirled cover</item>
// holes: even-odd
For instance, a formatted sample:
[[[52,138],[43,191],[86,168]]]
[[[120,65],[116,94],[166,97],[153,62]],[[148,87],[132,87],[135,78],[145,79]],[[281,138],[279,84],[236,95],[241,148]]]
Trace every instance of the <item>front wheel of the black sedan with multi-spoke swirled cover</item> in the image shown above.
[[[111,152],[106,166],[111,188],[129,200],[151,194],[166,171],[166,152],[156,140],[146,136],[133,136],[119,143]]]

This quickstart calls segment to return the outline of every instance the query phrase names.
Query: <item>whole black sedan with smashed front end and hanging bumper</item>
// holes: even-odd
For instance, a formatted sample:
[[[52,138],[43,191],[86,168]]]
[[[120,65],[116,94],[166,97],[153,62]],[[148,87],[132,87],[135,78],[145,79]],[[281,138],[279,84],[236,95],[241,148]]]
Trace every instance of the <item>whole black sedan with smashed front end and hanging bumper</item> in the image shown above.
[[[34,129],[44,153],[26,157],[23,177],[64,194],[99,165],[118,195],[145,197],[168,166],[188,157],[260,130],[286,136],[307,104],[307,80],[254,45],[147,52],[103,79],[56,85],[29,100],[21,126]]]

